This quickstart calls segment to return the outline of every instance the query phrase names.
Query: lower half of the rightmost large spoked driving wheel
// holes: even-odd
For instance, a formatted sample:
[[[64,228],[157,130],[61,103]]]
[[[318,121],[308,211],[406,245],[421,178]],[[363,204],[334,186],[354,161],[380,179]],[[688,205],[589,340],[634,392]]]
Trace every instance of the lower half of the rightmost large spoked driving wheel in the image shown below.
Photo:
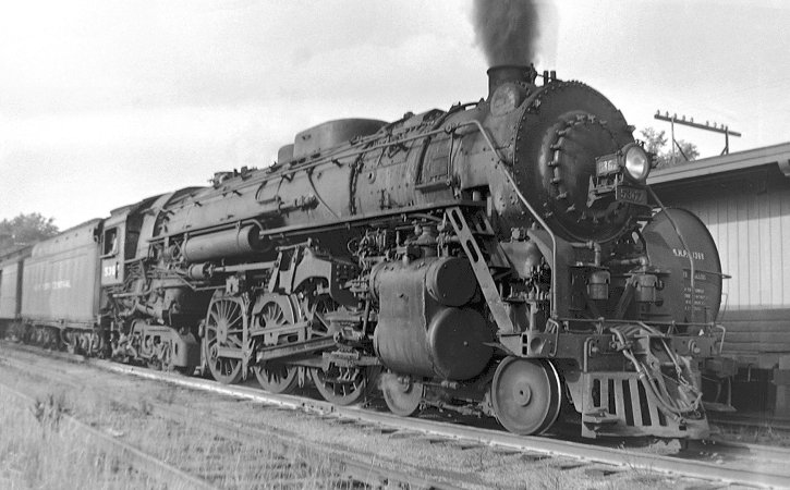
[[[328,371],[313,369],[313,381],[324,400],[336,405],[351,405],[367,393],[378,375],[374,366],[340,367],[332,365]]]

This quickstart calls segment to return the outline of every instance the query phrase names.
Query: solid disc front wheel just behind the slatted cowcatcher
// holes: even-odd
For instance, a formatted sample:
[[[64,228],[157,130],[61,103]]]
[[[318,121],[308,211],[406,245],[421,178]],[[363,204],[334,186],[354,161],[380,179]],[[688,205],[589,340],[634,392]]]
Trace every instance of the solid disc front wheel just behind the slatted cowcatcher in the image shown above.
[[[491,401],[499,422],[509,431],[545,432],[560,413],[561,382],[547,360],[507,357],[491,382]]]

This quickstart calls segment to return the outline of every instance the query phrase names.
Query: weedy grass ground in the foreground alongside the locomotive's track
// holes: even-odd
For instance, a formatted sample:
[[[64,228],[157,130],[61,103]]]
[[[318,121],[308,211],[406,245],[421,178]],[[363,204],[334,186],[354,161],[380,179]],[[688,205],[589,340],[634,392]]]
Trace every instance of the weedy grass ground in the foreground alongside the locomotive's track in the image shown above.
[[[0,382],[7,382],[9,375],[13,372],[0,368]],[[586,475],[584,469],[562,470],[551,460],[499,454],[486,445],[461,451],[430,444],[418,437],[390,439],[376,431],[327,424],[299,411],[262,411],[259,406],[212,401],[209,394],[172,385],[118,380],[110,383],[100,377],[95,382],[68,385],[68,380],[54,382],[39,377],[33,381],[35,376],[20,375],[19,379],[25,381],[10,384],[37,392],[38,401],[34,405],[0,394],[0,489],[161,488],[118,458],[92,449],[87,438],[70,432],[69,426],[62,424],[64,414],[73,414],[185,470],[211,457],[221,457],[221,465],[212,465],[219,471],[212,482],[234,488],[293,488],[293,482],[285,481],[296,478],[301,488],[344,488],[336,479],[337,463],[320,461],[311,451],[314,444],[354,453],[372,465],[409,468],[415,476],[447,476],[458,481],[459,474],[466,474],[467,488],[639,490],[667,483],[635,468],[624,471],[635,478],[623,481],[617,476]],[[184,408],[195,418],[173,421],[158,417],[157,406],[161,405]],[[218,438],[202,426],[215,411],[242,425],[271,425],[299,433],[304,442],[279,454],[279,446],[265,437],[259,442],[246,443]],[[401,463],[404,466],[398,466]]]

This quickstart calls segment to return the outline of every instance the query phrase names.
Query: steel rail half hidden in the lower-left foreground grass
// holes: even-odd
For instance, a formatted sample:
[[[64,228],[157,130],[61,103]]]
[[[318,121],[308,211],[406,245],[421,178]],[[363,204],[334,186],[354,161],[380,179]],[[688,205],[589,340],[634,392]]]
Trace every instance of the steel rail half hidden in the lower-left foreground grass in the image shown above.
[[[31,404],[35,403],[35,400],[32,396],[3,383],[0,383],[0,392],[10,393]],[[134,468],[137,468],[141,471],[160,480],[166,483],[168,488],[190,488],[196,490],[214,490],[217,488],[200,478],[194,477],[174,466],[162,463],[150,454],[147,454],[131,444],[114,439],[94,427],[83,424],[68,414],[61,415],[61,421],[69,425],[73,430],[87,434],[95,443],[101,446],[105,452],[120,453],[120,456],[131,463]]]

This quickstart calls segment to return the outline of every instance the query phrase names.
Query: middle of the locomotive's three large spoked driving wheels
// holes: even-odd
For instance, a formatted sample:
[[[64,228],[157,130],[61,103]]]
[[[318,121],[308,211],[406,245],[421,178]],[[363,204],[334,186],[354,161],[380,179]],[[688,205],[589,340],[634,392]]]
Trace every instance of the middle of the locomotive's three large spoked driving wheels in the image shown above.
[[[266,333],[266,329],[293,324],[295,317],[293,305],[289,298],[280,295],[266,301],[257,316],[264,333]],[[253,371],[255,371],[255,378],[260,387],[271,393],[292,393],[299,383],[296,366],[270,360],[264,366],[256,366]]]

